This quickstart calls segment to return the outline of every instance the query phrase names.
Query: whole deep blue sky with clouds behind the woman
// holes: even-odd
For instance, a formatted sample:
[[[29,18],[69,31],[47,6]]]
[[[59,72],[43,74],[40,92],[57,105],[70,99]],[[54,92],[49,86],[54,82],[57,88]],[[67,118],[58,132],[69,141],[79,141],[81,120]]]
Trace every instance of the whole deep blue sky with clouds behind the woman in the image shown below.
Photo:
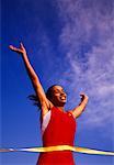
[[[46,90],[62,85],[66,109],[90,100],[77,120],[75,144],[114,151],[113,0],[3,0],[1,50],[1,146],[42,146],[39,111],[21,56],[8,46],[23,42]],[[36,153],[3,153],[2,165],[34,165]],[[111,156],[75,153],[77,165],[113,165]]]

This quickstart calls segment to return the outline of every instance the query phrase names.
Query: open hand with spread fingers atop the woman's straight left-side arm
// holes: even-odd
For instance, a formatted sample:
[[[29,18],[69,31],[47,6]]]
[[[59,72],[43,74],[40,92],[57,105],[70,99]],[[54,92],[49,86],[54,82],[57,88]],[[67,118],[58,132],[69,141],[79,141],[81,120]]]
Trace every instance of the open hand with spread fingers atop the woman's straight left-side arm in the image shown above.
[[[14,47],[13,45],[10,45],[9,48],[11,51],[14,51],[14,52],[19,53],[19,54],[26,54],[25,47],[23,46],[22,43],[20,43],[20,48]]]

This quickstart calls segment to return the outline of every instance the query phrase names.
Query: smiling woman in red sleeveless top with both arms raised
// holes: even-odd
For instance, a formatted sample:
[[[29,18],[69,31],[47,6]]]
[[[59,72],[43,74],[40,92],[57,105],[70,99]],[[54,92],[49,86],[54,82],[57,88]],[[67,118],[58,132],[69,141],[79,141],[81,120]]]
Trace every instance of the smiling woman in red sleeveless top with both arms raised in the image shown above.
[[[45,94],[39,79],[34,72],[25,47],[20,44],[20,48],[10,45],[10,50],[19,53],[24,62],[25,68],[33,84],[36,101],[41,108],[41,122],[43,146],[73,145],[76,120],[84,110],[88,103],[88,96],[81,94],[81,102],[72,110],[65,111],[67,95],[61,86],[54,85]],[[37,165],[73,165],[75,161],[70,151],[57,151],[42,153]]]

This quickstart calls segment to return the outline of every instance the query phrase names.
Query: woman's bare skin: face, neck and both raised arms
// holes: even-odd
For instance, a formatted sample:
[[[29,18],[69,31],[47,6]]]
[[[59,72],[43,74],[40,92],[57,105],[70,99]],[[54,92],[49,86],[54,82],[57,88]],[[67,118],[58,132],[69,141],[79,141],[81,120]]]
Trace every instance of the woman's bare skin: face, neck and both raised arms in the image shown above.
[[[52,100],[48,100],[46,98],[43,86],[39,81],[39,78],[36,75],[34,68],[32,67],[32,65],[29,61],[29,56],[26,54],[26,50],[25,50],[24,45],[21,43],[19,48],[10,45],[9,48],[11,51],[18,53],[24,62],[24,66],[26,68],[27,75],[32,81],[33,88],[34,88],[36,96],[37,96],[39,103],[41,103],[42,118],[54,106],[56,106],[59,110],[65,111],[65,103],[67,102],[67,95],[64,91],[62,87],[61,86],[54,86]],[[80,97],[81,97],[81,101],[80,101],[79,106],[77,106],[72,110],[70,110],[70,112],[72,113],[72,116],[75,118],[78,118],[83,112],[83,110],[88,103],[88,96],[87,95],[84,95],[82,92],[82,94],[80,94]]]

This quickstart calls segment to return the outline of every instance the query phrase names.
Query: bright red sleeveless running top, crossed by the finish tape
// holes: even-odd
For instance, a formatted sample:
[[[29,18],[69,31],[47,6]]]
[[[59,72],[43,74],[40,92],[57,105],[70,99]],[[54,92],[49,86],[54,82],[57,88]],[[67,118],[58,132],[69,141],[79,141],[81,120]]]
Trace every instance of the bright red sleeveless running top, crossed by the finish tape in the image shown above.
[[[43,134],[43,146],[73,145],[75,132],[76,120],[72,114],[53,107],[49,123]],[[75,165],[72,152],[42,153],[37,165]]]

